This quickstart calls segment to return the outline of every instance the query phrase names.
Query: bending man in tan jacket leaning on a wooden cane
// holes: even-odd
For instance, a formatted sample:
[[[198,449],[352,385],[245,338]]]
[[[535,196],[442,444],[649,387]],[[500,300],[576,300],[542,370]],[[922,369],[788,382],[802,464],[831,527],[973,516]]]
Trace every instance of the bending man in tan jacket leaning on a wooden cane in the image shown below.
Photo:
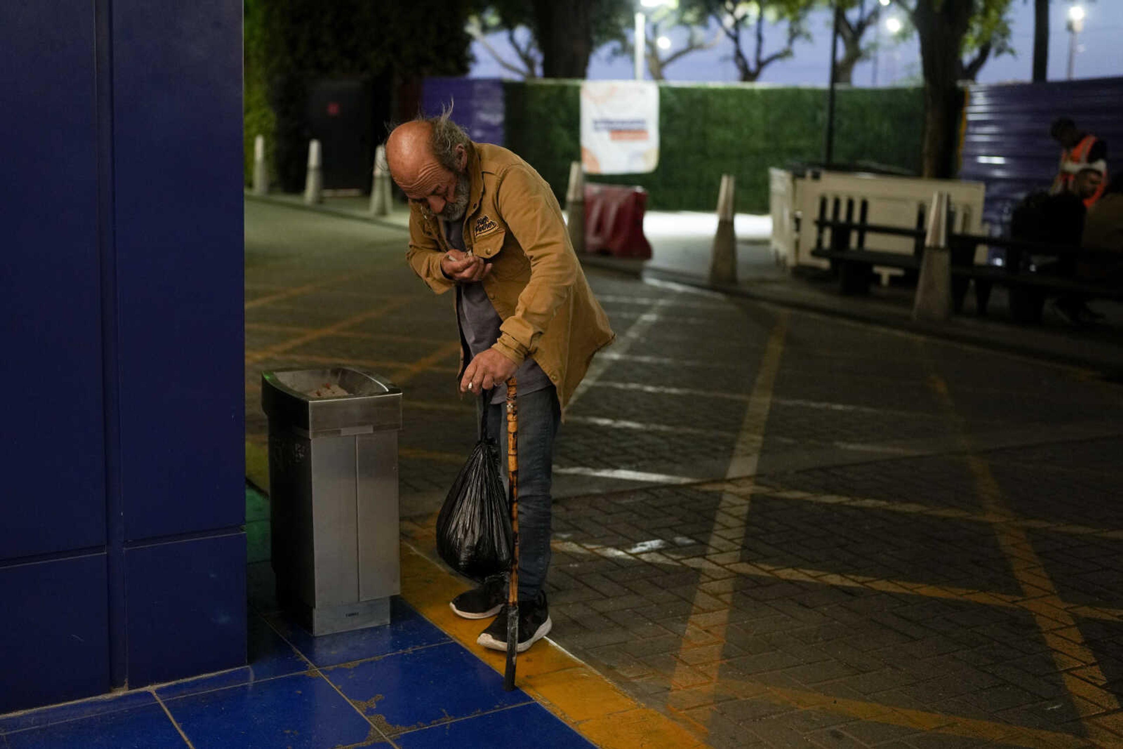
[[[456,291],[460,392],[491,389],[487,422],[501,450],[504,383],[519,384],[519,643],[549,632],[550,474],[562,409],[613,334],[577,262],[562,209],[529,164],[473,143],[448,118],[399,126],[386,140],[394,182],[410,200],[407,259],[436,293]],[[477,642],[506,649],[502,578],[450,603],[495,620]]]

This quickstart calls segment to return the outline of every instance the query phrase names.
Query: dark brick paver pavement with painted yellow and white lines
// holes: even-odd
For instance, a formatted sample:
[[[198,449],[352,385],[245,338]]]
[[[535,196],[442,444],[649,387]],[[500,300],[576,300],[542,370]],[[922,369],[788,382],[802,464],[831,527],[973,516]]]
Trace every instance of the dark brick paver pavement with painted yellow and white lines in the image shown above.
[[[472,447],[404,234],[247,205],[263,369],[400,384],[403,531]],[[600,272],[620,336],[555,458],[551,639],[714,747],[1123,746],[1123,390]]]

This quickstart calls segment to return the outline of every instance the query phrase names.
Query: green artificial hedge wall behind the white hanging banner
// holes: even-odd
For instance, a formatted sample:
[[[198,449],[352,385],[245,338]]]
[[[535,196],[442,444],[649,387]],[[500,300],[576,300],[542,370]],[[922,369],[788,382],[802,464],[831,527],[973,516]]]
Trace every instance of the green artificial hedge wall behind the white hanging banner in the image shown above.
[[[510,82],[508,147],[565,197],[581,156],[581,82]],[[592,177],[638,184],[659,210],[713,210],[722,173],[737,177],[737,210],[768,210],[768,167],[822,158],[827,92],[761,85],[661,85],[659,166],[651,174]],[[834,161],[875,162],[919,173],[920,89],[839,89]]]

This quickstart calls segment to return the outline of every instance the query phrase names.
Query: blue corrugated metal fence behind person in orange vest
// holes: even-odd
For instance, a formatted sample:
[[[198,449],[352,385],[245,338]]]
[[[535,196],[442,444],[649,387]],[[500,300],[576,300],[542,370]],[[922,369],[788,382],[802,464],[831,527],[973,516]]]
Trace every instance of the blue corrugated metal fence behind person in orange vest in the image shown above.
[[[1052,183],[1060,146],[1049,126],[1058,117],[1104,139],[1108,172],[1123,173],[1123,77],[971,86],[959,176],[986,183],[992,230],[1005,229],[1022,198]]]

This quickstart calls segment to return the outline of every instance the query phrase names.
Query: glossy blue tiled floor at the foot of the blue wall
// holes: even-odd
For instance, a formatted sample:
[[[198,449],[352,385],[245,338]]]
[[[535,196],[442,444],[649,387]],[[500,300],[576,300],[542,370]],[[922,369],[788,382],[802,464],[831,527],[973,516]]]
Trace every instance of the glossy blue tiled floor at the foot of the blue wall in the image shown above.
[[[248,666],[0,716],[0,749],[592,746],[407,604],[391,611],[320,638],[250,614]]]

